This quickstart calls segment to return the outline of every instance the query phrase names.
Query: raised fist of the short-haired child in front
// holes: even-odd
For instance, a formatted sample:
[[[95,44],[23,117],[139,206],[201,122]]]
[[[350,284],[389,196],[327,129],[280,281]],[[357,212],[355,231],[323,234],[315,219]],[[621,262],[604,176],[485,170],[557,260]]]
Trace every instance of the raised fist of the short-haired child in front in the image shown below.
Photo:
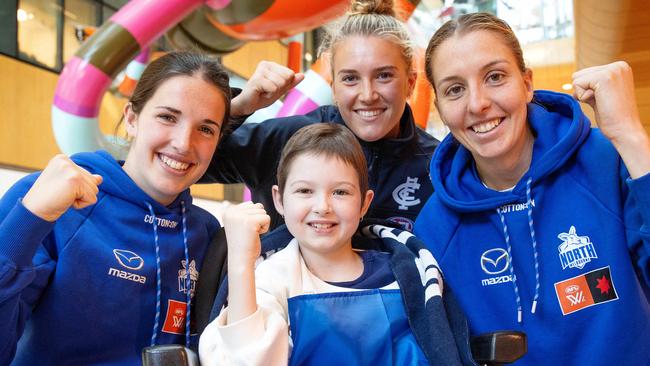
[[[228,239],[228,261],[255,263],[260,256],[260,235],[269,230],[271,218],[261,203],[243,202],[230,206],[223,215]]]

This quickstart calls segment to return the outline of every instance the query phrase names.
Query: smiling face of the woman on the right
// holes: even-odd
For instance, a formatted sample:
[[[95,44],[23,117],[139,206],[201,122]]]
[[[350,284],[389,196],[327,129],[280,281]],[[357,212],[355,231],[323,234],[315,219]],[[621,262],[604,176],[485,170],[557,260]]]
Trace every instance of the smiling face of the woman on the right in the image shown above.
[[[477,164],[518,161],[532,136],[526,122],[532,73],[519,70],[502,38],[486,30],[454,35],[431,67],[440,116]]]

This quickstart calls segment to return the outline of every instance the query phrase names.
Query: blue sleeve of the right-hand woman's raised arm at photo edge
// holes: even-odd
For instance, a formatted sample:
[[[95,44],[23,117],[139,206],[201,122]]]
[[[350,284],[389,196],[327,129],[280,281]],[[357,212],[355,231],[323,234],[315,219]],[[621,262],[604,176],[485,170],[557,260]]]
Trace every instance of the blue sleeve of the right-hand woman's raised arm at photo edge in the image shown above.
[[[632,260],[650,287],[650,173],[626,180],[625,228]]]

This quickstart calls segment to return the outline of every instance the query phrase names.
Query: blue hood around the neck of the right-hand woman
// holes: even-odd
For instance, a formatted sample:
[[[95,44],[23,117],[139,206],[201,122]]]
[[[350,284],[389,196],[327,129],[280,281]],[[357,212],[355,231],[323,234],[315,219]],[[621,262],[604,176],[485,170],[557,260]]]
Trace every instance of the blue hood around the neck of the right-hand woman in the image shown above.
[[[431,181],[440,200],[458,212],[495,209],[526,198],[527,182],[535,186],[562,167],[589,135],[591,123],[578,102],[567,94],[535,91],[528,104],[528,124],[535,136],[528,171],[514,189],[498,192],[481,182],[471,153],[451,134],[431,160]],[[553,125],[544,128],[543,125]]]

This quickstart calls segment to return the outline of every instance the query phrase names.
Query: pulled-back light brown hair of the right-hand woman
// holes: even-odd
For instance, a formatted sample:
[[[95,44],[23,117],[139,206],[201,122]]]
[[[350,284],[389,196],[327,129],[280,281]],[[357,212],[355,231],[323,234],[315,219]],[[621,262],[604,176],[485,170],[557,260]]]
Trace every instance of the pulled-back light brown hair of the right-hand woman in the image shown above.
[[[436,90],[436,86],[433,83],[433,56],[438,47],[440,47],[444,41],[456,34],[463,35],[479,30],[494,32],[501,36],[506,46],[510,48],[512,54],[515,56],[519,70],[521,72],[526,71],[524,53],[521,50],[521,45],[519,44],[517,36],[515,36],[515,32],[513,32],[508,23],[490,13],[464,14],[458,19],[452,19],[443,24],[442,27],[438,28],[436,33],[433,34],[431,40],[429,40],[429,45],[424,54],[424,68],[427,80],[431,83],[434,91]]]

